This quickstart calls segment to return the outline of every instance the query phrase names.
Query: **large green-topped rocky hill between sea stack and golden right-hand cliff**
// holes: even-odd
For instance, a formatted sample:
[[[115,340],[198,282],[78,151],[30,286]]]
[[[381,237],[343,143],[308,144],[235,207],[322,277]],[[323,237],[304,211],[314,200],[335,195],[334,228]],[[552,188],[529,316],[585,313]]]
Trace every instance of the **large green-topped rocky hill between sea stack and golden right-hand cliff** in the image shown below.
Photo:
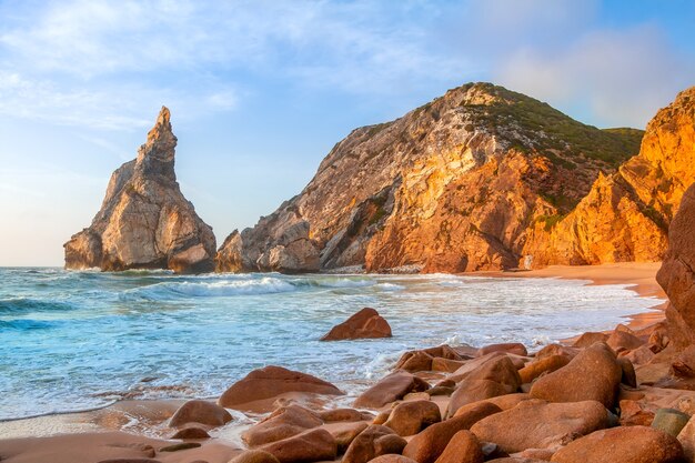
[[[637,152],[641,138],[470,83],[354,130],[298,197],[224,241],[216,269],[514,268],[530,231],[570,213],[600,175]]]

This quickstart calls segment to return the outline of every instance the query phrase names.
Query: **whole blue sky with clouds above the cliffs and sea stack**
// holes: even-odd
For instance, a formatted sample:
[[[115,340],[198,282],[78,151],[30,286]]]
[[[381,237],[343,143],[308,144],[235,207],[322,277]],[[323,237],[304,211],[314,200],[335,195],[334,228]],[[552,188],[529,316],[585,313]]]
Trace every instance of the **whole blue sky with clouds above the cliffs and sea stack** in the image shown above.
[[[694,24],[695,0],[0,0],[0,265],[62,265],[162,105],[220,244],[470,81],[644,128],[695,85]]]

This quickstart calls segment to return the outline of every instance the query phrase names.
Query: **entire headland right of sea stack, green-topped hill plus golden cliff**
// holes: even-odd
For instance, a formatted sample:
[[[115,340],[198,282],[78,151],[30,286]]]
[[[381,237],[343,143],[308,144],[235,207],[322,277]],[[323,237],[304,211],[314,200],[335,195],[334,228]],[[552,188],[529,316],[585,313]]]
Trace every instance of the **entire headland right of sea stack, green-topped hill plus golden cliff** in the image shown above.
[[[657,262],[695,181],[694,95],[679,93],[642,132],[585,125],[488,83],[450,90],[354,130],[299,195],[224,240],[216,269]]]

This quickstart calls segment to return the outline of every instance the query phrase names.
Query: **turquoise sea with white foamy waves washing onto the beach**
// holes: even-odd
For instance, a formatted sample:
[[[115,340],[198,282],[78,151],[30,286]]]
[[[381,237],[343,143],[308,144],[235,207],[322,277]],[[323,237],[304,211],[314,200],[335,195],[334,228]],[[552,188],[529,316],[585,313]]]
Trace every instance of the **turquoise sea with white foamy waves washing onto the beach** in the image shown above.
[[[355,391],[407,349],[531,346],[608,329],[654,300],[621,285],[453,275],[72,272],[0,269],[0,420],[123,397],[220,394],[266,364]],[[363,306],[387,340],[319,342]]]

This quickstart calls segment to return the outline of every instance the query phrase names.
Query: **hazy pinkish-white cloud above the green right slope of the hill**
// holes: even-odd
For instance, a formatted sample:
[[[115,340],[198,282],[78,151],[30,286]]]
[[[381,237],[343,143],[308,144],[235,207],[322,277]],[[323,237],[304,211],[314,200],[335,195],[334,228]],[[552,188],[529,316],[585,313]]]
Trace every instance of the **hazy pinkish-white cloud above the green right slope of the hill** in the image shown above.
[[[561,50],[521,49],[501,63],[498,81],[581,108],[602,125],[644,128],[656,110],[692,85],[695,67],[653,27],[598,30]]]

